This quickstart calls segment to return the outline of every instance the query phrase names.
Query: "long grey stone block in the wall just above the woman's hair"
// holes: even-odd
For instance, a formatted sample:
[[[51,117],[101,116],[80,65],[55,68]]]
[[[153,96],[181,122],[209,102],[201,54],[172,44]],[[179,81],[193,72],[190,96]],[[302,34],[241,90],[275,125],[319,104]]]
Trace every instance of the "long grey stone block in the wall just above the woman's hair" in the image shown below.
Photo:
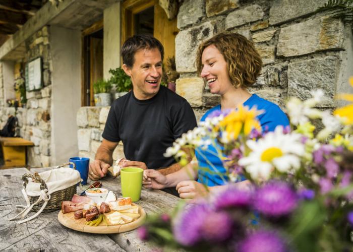
[[[225,29],[241,26],[255,22],[264,17],[264,12],[259,5],[252,5],[240,10],[233,11],[225,18]]]

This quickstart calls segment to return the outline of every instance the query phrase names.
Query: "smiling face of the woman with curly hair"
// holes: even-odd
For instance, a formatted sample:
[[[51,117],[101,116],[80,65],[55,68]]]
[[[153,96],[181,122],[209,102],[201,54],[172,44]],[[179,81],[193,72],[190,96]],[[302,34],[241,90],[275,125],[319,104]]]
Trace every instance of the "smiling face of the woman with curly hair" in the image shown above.
[[[212,94],[222,95],[234,88],[229,79],[227,63],[214,45],[209,45],[204,49],[201,62],[201,77],[209,86]]]

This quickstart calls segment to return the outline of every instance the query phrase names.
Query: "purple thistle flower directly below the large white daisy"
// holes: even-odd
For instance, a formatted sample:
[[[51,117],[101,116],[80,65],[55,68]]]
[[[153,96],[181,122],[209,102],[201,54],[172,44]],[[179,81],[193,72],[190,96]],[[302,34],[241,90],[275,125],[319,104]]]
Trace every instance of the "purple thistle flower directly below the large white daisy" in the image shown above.
[[[289,184],[272,181],[258,189],[254,198],[254,207],[264,215],[280,217],[297,208],[298,198]]]

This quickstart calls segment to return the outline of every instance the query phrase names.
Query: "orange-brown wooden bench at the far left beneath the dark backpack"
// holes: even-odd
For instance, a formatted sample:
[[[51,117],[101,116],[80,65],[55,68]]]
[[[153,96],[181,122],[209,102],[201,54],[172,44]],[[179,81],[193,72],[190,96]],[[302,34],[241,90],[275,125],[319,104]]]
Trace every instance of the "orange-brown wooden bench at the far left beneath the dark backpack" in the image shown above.
[[[4,165],[0,166],[0,169],[26,166],[26,147],[34,146],[31,141],[23,138],[0,137],[0,144],[4,158]]]

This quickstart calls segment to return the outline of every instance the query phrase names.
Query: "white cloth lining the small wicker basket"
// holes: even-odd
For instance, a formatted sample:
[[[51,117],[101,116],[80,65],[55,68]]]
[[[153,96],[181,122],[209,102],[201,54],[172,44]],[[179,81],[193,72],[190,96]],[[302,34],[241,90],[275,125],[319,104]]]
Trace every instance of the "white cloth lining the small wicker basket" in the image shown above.
[[[78,182],[81,182],[80,172],[69,167],[61,167],[38,173],[39,176],[45,181],[48,187],[48,194],[68,188]],[[40,196],[40,183],[32,182],[31,178],[28,179],[26,193],[28,196]]]

